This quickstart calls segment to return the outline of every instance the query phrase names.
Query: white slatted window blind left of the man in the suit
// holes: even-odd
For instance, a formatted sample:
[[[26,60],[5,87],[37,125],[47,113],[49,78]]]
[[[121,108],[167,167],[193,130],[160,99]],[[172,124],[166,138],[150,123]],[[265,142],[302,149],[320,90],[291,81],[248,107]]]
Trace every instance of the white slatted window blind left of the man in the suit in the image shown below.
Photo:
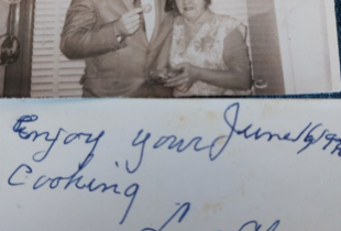
[[[80,97],[84,61],[69,61],[59,50],[70,0],[36,0],[31,97]]]

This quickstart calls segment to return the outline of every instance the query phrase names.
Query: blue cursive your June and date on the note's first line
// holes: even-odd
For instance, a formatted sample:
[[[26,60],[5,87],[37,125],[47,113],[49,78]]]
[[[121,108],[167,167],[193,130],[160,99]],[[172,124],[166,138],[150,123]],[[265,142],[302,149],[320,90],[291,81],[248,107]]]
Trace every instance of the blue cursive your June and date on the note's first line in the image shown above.
[[[279,142],[301,143],[302,146],[296,154],[302,153],[317,143],[324,142],[322,151],[327,151],[331,147],[330,153],[338,154],[338,156],[341,157],[341,138],[336,133],[329,132],[328,129],[324,129],[322,123],[314,124],[312,122],[308,122],[296,134],[289,131],[279,134],[273,131],[266,131],[262,127],[256,127],[253,123],[240,124],[240,110],[241,106],[239,102],[228,106],[223,112],[226,134],[209,141],[204,140],[204,138],[199,135],[187,141],[175,134],[154,138],[152,133],[145,132],[143,129],[140,130],[131,144],[133,147],[139,148],[138,155],[134,156],[138,161],[135,161],[134,165],[130,164],[131,161],[127,161],[127,172],[133,174],[141,167],[147,148],[163,148],[163,151],[173,151],[176,153],[184,153],[186,151],[207,152],[209,161],[213,162],[228,148],[234,136],[255,141],[265,140],[272,142],[276,140]],[[219,143],[222,143],[222,145],[218,145]]]

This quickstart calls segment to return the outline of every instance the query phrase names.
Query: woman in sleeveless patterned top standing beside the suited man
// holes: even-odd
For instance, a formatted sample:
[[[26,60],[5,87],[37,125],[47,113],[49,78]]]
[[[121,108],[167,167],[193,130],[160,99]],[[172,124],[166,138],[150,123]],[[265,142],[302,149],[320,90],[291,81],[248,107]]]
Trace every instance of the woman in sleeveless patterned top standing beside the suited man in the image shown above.
[[[245,26],[209,10],[211,0],[176,0],[170,69],[175,97],[251,94]]]

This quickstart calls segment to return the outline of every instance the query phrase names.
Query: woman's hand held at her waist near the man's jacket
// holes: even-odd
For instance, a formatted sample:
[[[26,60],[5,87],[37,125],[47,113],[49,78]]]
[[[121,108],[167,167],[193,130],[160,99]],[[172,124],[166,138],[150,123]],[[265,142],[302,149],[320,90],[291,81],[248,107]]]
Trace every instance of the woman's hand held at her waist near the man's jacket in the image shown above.
[[[169,78],[165,87],[177,88],[179,91],[186,92],[198,81],[197,68],[191,64],[180,64],[175,69],[183,69],[183,72],[180,75]]]

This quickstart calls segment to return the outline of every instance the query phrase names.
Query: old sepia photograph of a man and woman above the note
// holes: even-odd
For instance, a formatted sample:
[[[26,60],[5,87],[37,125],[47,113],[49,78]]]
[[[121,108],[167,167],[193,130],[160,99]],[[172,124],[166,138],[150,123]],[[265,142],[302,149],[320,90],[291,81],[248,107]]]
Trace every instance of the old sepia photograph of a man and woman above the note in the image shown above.
[[[332,0],[0,0],[0,97],[340,91]]]

